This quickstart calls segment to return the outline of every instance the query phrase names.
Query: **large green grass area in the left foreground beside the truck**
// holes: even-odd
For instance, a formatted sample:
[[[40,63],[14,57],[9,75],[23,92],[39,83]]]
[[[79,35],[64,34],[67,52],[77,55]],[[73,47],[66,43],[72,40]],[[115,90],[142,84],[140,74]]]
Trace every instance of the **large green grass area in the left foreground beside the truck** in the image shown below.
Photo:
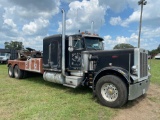
[[[0,120],[110,120],[116,111],[100,105],[89,88],[67,88],[42,75],[9,78],[0,65]]]

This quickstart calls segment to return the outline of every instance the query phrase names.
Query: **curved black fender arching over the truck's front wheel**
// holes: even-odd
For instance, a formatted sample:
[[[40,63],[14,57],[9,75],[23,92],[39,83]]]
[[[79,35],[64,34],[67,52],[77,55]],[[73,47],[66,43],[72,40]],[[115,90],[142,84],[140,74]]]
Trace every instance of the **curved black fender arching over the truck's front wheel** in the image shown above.
[[[101,70],[99,70],[94,78],[93,78],[93,90],[95,90],[95,86],[96,83],[98,81],[98,79],[104,75],[118,75],[118,76],[122,76],[123,78],[125,78],[125,82],[127,82],[127,84],[131,83],[131,76],[129,75],[129,71],[126,69],[123,69],[121,67],[105,67]]]

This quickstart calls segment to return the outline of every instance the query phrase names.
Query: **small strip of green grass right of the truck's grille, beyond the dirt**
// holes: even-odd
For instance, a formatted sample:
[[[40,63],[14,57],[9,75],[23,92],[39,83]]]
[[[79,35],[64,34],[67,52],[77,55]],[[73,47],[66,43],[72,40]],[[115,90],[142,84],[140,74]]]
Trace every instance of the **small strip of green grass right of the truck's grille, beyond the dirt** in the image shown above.
[[[149,64],[151,66],[151,82],[160,85],[160,60],[149,60]]]

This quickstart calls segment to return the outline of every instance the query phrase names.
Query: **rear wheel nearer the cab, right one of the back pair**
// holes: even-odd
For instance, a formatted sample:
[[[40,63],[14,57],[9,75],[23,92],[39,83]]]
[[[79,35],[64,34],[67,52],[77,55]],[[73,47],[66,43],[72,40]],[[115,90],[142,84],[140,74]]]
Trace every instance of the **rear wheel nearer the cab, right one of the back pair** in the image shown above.
[[[23,75],[24,75],[24,71],[19,69],[19,67],[16,65],[14,67],[14,76],[15,76],[15,78],[22,79]]]

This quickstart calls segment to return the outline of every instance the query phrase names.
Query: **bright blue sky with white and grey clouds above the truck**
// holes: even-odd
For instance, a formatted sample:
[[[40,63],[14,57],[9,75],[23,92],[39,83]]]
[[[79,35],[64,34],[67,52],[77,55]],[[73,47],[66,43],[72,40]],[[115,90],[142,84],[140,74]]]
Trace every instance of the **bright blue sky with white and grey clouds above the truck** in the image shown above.
[[[0,48],[4,42],[20,41],[25,47],[43,49],[43,38],[61,33],[63,8],[66,33],[91,31],[105,40],[105,49],[119,43],[138,45],[139,0],[0,0]],[[143,9],[141,47],[160,44],[160,0],[146,0]]]

